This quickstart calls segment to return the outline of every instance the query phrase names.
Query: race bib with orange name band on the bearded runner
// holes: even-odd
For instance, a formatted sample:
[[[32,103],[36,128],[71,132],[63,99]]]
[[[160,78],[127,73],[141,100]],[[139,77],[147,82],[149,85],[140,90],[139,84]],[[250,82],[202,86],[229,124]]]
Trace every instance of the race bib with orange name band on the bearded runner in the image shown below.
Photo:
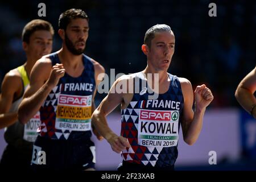
[[[55,128],[69,131],[91,130],[92,95],[60,94],[57,102]]]

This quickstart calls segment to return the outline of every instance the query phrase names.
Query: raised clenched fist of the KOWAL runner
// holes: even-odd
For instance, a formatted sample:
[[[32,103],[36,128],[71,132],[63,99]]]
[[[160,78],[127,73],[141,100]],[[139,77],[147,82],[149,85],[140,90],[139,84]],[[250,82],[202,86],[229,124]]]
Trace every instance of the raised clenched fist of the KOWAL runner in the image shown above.
[[[213,101],[213,94],[207,86],[200,85],[196,87],[195,90],[195,106],[196,109],[202,110],[205,109],[210,102]]]

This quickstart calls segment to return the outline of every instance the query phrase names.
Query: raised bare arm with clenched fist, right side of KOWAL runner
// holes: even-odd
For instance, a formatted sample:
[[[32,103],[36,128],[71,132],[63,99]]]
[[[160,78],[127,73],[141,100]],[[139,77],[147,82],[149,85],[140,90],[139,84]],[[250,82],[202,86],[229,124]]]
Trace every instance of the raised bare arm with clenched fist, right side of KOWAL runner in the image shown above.
[[[184,96],[183,120],[181,121],[184,141],[192,145],[198,139],[202,126],[206,107],[212,102],[213,95],[205,86],[197,86],[195,90],[195,113],[192,110],[193,90],[191,83],[180,78]]]

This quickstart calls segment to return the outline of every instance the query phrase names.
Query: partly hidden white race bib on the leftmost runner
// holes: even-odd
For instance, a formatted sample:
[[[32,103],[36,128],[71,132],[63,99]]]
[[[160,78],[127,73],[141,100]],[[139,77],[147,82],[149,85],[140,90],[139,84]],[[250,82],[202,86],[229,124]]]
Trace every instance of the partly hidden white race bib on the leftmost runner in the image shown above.
[[[30,119],[25,125],[24,125],[24,134],[23,139],[28,142],[35,142],[36,138],[39,134],[39,127],[40,127],[40,113],[36,113],[34,117]]]

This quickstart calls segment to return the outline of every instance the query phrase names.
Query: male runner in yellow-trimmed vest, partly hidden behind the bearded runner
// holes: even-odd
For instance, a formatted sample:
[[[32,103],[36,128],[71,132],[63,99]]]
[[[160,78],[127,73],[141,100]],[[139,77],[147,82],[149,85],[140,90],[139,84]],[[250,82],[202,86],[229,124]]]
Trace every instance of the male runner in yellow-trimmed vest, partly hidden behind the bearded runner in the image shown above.
[[[29,76],[36,60],[51,53],[54,30],[51,23],[34,19],[22,32],[22,46],[26,52],[26,63],[5,75],[0,95],[0,128],[5,130],[7,146],[1,159],[4,169],[28,169],[31,163],[32,146],[38,136],[39,114],[31,115],[23,125],[18,122],[18,106],[24,90],[30,82]],[[35,75],[36,76],[36,75]]]

